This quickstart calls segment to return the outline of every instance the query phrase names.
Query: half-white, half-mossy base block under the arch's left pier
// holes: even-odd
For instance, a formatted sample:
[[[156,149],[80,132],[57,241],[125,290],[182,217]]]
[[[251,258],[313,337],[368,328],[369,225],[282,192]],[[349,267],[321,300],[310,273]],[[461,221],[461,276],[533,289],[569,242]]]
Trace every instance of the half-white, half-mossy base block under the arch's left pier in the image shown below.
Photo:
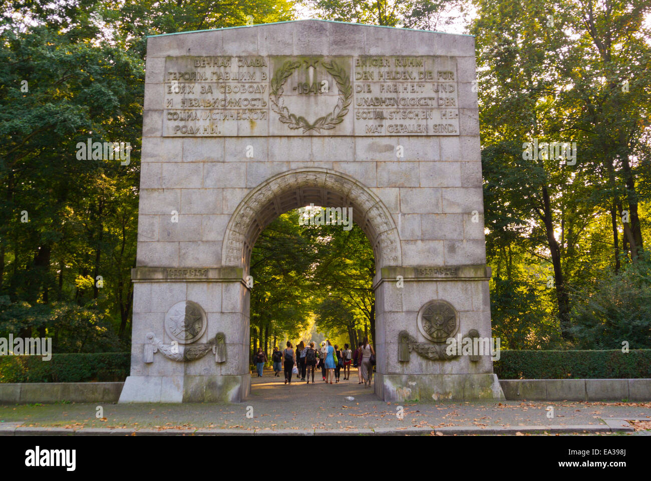
[[[129,376],[120,403],[242,402],[251,390],[251,375]]]

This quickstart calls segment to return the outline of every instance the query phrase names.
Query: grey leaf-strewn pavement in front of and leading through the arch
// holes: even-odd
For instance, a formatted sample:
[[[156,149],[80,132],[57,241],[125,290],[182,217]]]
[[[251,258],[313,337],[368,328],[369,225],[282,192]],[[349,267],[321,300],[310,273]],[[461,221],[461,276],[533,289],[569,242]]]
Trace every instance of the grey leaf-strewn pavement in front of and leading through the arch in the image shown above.
[[[0,434],[40,433],[63,428],[68,433],[94,433],[111,428],[115,433],[611,433],[632,430],[622,420],[644,420],[639,434],[651,433],[651,403],[579,401],[502,401],[390,403],[380,401],[372,389],[350,381],[326,385],[320,373],[315,384],[254,374],[249,400],[239,404],[109,404],[102,405],[104,420],[96,418],[96,403],[0,405]],[[352,396],[353,401],[345,398]],[[404,416],[396,414],[400,407]],[[547,408],[554,409],[548,418]],[[249,417],[247,417],[247,414]],[[250,417],[252,416],[252,417]],[[20,428],[18,427],[20,426]],[[646,430],[644,430],[646,426]]]

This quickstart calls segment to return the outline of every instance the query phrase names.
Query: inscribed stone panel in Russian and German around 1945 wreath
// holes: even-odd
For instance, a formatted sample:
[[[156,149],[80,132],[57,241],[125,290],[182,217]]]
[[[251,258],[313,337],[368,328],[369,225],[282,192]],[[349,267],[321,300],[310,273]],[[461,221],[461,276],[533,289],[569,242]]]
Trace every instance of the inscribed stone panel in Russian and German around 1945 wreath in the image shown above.
[[[454,136],[457,91],[454,57],[167,57],[163,136]]]

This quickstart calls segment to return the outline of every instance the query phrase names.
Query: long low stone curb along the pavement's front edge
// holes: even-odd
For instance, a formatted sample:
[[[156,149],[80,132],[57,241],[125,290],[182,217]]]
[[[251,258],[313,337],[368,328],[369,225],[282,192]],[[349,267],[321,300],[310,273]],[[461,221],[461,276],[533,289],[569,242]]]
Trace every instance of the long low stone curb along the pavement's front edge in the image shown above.
[[[634,431],[626,420],[603,420],[605,424],[568,424],[540,426],[447,426],[444,428],[378,428],[377,430],[357,431],[318,431],[318,430],[152,430],[152,429],[109,429],[81,428],[23,428],[20,426],[0,426],[0,435],[5,436],[418,436],[418,435],[515,435],[516,433],[615,433]],[[14,423],[12,423],[14,424]],[[15,423],[18,424],[18,423]]]

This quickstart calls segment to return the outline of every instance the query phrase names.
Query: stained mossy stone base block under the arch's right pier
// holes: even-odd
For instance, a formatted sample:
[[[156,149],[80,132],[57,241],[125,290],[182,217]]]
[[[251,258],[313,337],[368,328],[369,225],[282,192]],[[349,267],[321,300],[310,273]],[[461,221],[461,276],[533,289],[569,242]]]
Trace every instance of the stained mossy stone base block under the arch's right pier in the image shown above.
[[[495,374],[380,374],[375,394],[384,401],[505,400]]]

